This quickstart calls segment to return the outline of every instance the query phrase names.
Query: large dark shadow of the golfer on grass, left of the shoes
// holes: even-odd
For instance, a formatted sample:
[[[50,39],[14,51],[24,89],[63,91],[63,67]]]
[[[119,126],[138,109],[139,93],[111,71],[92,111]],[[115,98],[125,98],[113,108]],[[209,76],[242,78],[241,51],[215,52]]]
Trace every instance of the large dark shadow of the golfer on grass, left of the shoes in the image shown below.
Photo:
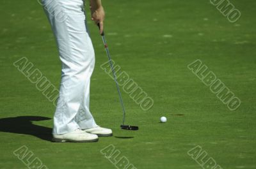
[[[6,133],[18,133],[36,136],[42,140],[51,141],[52,128],[38,126],[33,121],[50,120],[49,117],[41,116],[19,116],[0,119],[0,131]]]

